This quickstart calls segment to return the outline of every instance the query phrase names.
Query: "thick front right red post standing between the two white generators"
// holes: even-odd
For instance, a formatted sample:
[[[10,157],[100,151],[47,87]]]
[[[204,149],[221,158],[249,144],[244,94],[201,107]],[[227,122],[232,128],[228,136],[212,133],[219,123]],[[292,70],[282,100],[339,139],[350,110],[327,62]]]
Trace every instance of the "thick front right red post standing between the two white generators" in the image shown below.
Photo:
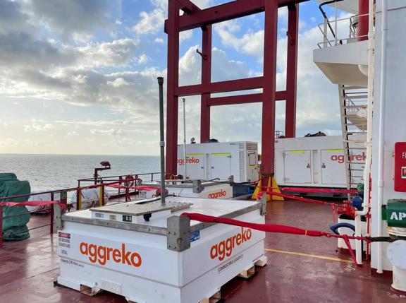
[[[262,94],[262,175],[274,170],[276,41],[278,35],[278,1],[265,1],[264,85]],[[268,178],[264,179],[266,186]]]

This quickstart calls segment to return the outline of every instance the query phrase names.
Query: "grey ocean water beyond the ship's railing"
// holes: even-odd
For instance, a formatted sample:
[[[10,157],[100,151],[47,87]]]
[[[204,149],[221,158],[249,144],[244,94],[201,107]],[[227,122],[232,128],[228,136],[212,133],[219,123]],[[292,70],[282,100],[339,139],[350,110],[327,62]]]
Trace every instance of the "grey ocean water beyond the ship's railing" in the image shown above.
[[[0,172],[29,181],[31,191],[66,189],[78,186],[78,179],[92,178],[101,161],[111,164],[111,170],[99,172],[101,177],[159,172],[159,156],[15,154],[0,154]]]

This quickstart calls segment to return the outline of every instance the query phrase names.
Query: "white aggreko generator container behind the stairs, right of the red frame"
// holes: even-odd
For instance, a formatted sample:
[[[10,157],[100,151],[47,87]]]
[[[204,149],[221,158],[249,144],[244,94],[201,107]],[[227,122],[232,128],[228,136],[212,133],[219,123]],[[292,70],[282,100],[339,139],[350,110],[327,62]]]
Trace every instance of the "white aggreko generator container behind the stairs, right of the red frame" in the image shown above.
[[[360,150],[351,160],[365,162]],[[275,177],[280,186],[345,188],[343,137],[278,138],[275,141]],[[355,178],[354,183],[362,183]],[[356,187],[356,184],[353,184]]]

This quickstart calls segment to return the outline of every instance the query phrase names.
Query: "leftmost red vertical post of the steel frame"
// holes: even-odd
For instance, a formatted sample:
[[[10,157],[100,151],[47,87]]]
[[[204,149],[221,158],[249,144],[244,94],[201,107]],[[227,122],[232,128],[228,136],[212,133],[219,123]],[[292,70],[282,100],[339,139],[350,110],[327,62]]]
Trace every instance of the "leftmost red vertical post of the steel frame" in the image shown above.
[[[168,1],[168,81],[166,87],[166,174],[176,174],[178,157],[179,4]]]

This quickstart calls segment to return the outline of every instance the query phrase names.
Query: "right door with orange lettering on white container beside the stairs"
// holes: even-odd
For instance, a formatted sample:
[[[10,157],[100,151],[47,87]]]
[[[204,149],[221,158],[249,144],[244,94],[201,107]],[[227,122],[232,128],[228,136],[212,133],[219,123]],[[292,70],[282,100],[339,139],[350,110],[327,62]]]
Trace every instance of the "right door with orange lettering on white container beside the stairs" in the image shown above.
[[[321,183],[345,185],[344,150],[321,150]]]

